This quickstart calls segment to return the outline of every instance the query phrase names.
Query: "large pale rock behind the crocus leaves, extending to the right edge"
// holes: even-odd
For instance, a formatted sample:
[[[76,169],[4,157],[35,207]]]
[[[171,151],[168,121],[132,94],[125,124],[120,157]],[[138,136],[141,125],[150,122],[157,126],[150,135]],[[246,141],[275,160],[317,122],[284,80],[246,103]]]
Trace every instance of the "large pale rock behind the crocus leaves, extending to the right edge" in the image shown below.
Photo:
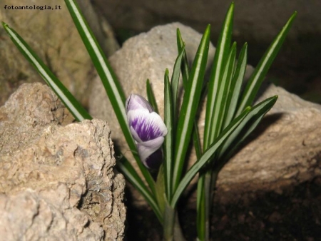
[[[190,56],[196,51],[200,34],[181,24],[158,26],[147,34],[126,41],[120,51],[111,56],[111,66],[116,71],[124,91],[146,96],[146,78],[151,79],[158,107],[163,103],[163,73],[172,71],[177,56],[175,29],[179,27]],[[189,57],[191,60],[191,58]],[[209,61],[213,59],[210,46]],[[249,71],[250,72],[249,68]],[[91,96],[91,113],[112,123],[116,136],[120,137],[117,121],[110,116],[111,106],[99,80]],[[263,119],[245,147],[223,168],[218,178],[220,197],[228,193],[250,190],[281,190],[286,185],[300,183],[320,175],[320,126],[321,107],[302,101],[282,88],[265,88],[261,98],[279,95],[272,111]],[[163,108],[160,108],[163,112]],[[204,111],[200,114],[200,137],[203,138]],[[118,132],[117,132],[118,131]],[[255,138],[255,140],[253,139]],[[119,141],[123,143],[123,141]],[[126,146],[123,146],[123,152]],[[193,153],[191,154],[191,160]],[[224,195],[226,194],[226,195]],[[232,196],[232,197],[233,197]]]

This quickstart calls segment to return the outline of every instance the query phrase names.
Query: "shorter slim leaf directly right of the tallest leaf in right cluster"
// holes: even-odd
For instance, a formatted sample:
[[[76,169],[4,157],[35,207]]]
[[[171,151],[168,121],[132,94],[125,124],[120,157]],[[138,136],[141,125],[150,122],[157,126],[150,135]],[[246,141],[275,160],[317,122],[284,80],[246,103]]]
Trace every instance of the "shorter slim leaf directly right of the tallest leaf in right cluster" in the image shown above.
[[[212,115],[213,125],[210,127],[210,143],[218,137],[223,126],[223,119],[225,116],[225,105],[228,98],[228,93],[230,89],[230,83],[233,76],[233,69],[235,63],[236,54],[236,43],[233,43],[232,48],[230,48],[230,54],[228,55],[228,60],[226,61],[225,70],[223,76],[218,83],[218,91],[215,96],[215,104]]]

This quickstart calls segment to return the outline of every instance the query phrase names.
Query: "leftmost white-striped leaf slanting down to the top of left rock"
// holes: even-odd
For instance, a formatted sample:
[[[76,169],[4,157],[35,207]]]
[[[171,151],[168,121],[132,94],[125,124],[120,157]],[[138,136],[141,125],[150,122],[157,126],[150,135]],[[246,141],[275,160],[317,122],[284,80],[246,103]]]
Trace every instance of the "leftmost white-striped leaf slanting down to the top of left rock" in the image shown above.
[[[76,98],[68,91],[68,89],[63,86],[63,83],[56,78],[54,73],[52,73],[49,68],[41,61],[41,58],[36,55],[36,53],[30,48],[28,43],[19,36],[19,34],[11,29],[6,23],[2,22],[4,30],[9,34],[11,40],[14,42],[16,47],[21,51],[24,57],[36,68],[36,71],[44,78],[44,81],[51,87],[51,89],[56,93],[58,98],[61,99],[62,103],[68,108],[76,120],[81,121],[84,119],[91,120],[91,116],[88,112],[81,106]]]

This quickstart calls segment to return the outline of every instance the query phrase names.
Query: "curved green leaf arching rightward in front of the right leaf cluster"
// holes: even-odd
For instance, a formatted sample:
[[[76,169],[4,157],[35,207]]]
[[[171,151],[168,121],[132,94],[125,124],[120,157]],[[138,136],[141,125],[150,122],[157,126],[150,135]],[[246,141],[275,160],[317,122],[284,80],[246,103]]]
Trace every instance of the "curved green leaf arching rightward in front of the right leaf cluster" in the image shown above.
[[[205,165],[205,163],[208,163],[208,161],[211,160],[211,158],[213,158],[213,155],[218,150],[218,148],[220,148],[220,145],[222,145],[223,142],[230,136],[230,134],[233,133],[233,131],[238,127],[238,125],[242,123],[244,118],[248,115],[250,109],[250,107],[245,108],[243,113],[241,113],[240,116],[235,118],[230,123],[230,125],[228,125],[228,127],[225,128],[225,130],[223,130],[223,132],[218,136],[218,138],[214,140],[213,144],[210,145],[208,150],[206,150],[203,153],[202,157],[196,163],[194,163],[193,166],[184,175],[183,179],[180,181],[178,185],[178,188],[176,188],[173,198],[170,202],[170,205],[172,207],[175,207],[178,198],[180,198],[180,195],[182,195],[183,191],[188,186],[190,181],[194,178],[196,173],[198,173],[200,169],[203,168],[203,165]]]

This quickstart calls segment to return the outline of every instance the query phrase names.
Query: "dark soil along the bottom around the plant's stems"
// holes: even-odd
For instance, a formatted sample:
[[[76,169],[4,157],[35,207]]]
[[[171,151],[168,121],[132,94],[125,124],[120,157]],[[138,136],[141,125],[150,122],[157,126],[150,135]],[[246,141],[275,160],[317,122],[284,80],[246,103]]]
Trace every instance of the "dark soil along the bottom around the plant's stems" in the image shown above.
[[[187,240],[195,240],[196,212],[181,211],[184,235]],[[151,210],[128,207],[127,227],[128,241],[161,240],[161,225]],[[215,202],[211,237],[215,241],[320,240],[321,178],[282,193],[245,193],[228,204]]]

